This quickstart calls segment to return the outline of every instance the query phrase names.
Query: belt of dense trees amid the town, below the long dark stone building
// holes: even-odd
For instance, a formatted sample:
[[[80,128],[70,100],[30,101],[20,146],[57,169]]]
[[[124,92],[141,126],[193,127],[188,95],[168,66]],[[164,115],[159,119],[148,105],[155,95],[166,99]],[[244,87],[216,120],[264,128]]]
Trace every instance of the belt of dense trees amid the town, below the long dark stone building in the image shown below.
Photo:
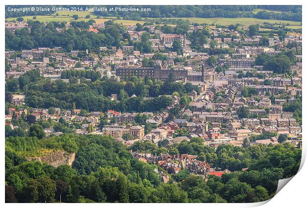
[[[136,76],[132,76],[129,81],[118,82],[112,78],[101,79],[100,74],[93,70],[85,70],[84,73],[78,71],[80,70],[63,71],[65,72],[62,74],[63,78],[70,78],[68,83],[62,80],[51,82],[37,76],[36,70],[26,72],[18,79],[19,83],[22,83],[20,87],[22,86],[26,94],[25,103],[30,107],[55,106],[71,109],[74,105],[75,108],[88,111],[115,109],[121,112],[144,112],[159,111],[172,104],[172,100],[163,95],[178,92],[180,96],[183,96],[193,90],[199,93],[199,88],[190,83],[186,85],[169,81],[162,83]],[[75,82],[73,77],[80,78],[80,82]],[[84,78],[90,78],[91,81]],[[6,88],[8,85],[9,82],[6,83]],[[119,95],[120,101],[111,101],[111,94]],[[130,98],[132,95],[137,97]],[[144,99],[145,97],[151,97],[151,99]],[[27,117],[29,123],[35,123],[35,117],[29,116]]]

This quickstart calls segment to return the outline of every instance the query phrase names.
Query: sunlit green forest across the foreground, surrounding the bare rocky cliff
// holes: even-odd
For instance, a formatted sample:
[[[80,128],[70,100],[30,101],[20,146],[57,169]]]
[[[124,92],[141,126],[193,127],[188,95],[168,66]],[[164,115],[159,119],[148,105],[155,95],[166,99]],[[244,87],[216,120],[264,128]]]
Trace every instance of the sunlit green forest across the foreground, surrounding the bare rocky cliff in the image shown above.
[[[74,134],[47,139],[5,139],[5,202],[7,203],[249,203],[274,196],[279,179],[293,176],[300,166],[301,150],[290,144],[204,146],[201,138],[169,147],[138,142],[126,147],[107,136]],[[72,167],[54,168],[25,156],[43,150],[75,152]],[[169,174],[156,164],[134,158],[129,150],[152,154],[195,154],[211,167],[228,168],[222,177]],[[242,168],[247,168],[243,171]],[[169,176],[162,183],[158,171]]]

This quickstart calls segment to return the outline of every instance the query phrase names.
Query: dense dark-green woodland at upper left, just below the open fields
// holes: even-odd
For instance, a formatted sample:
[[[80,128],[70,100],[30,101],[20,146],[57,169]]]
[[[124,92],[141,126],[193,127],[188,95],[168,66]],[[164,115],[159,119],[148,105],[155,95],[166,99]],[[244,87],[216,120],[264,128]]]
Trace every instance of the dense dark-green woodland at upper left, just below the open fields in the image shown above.
[[[52,23],[52,22],[51,22]],[[90,24],[82,22],[71,22],[71,28],[63,32],[57,32],[54,24],[40,23],[29,20],[31,33],[28,28],[17,29],[14,33],[5,29],[5,48],[11,50],[30,50],[37,47],[62,47],[70,50],[95,50],[101,46],[120,47],[119,41],[125,33],[119,24],[107,25],[99,33],[88,32]],[[83,24],[83,25],[80,25]],[[77,25],[78,27],[74,27]]]

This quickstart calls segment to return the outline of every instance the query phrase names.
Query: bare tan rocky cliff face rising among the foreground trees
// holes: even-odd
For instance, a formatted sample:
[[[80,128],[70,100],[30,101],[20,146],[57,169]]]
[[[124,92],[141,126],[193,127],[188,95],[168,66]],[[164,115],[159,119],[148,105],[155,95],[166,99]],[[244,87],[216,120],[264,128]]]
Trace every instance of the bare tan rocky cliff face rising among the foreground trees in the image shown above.
[[[41,161],[43,163],[50,164],[54,167],[58,167],[60,165],[69,165],[71,166],[73,161],[75,160],[76,154],[75,153],[65,153],[63,151],[55,151],[51,152],[46,156],[40,157],[27,157],[29,161]]]

